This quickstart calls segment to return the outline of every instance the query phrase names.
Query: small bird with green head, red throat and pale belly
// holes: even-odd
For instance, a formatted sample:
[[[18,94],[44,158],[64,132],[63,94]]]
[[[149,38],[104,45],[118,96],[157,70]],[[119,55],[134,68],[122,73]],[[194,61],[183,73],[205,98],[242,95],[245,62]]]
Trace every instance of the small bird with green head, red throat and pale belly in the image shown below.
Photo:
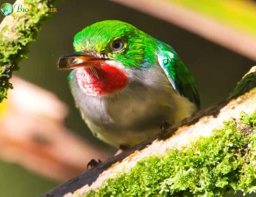
[[[82,118],[99,139],[130,147],[199,109],[194,79],[168,44],[131,24],[106,20],[74,37],[74,53],[59,69],[74,69],[69,85]]]

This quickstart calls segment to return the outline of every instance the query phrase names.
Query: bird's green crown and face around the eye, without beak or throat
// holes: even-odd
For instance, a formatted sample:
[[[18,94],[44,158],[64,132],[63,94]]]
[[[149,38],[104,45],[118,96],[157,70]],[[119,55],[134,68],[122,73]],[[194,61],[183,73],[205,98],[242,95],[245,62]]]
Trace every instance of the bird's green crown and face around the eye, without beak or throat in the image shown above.
[[[97,58],[114,60],[124,66],[140,67],[154,63],[155,39],[131,24],[118,20],[94,23],[74,37],[76,52],[86,51]],[[72,56],[79,56],[73,53]],[[66,65],[59,67],[67,68]]]

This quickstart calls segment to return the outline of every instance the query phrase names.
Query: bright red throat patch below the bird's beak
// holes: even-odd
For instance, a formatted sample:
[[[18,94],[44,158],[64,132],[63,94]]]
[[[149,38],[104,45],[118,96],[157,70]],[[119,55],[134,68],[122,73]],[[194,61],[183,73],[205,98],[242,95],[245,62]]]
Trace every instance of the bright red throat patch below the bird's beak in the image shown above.
[[[96,72],[96,73],[95,73]],[[123,90],[128,84],[128,76],[115,66],[105,62],[90,68],[78,68],[76,78],[86,94],[99,96]]]

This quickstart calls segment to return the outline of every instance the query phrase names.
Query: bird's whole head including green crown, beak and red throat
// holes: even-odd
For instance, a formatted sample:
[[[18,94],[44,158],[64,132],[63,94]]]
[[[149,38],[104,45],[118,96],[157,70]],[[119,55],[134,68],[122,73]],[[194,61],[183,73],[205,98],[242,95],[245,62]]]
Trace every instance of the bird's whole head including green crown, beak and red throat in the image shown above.
[[[75,74],[84,91],[93,95],[123,89],[132,78],[131,72],[144,70],[157,61],[156,40],[118,20],[105,20],[84,28],[75,35],[74,48],[76,52],[60,57],[58,67],[75,68],[71,76]],[[88,90],[89,87],[93,90]],[[101,93],[95,93],[99,89]]]

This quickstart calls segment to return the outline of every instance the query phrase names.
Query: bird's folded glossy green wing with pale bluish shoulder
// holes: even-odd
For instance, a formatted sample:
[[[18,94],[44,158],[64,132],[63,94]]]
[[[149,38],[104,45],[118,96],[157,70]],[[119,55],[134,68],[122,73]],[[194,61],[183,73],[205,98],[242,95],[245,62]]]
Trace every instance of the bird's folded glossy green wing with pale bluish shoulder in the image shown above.
[[[179,95],[187,97],[191,102],[196,104],[197,109],[200,109],[200,100],[194,79],[176,52],[161,50],[158,53],[158,63],[164,70],[174,90]]]

